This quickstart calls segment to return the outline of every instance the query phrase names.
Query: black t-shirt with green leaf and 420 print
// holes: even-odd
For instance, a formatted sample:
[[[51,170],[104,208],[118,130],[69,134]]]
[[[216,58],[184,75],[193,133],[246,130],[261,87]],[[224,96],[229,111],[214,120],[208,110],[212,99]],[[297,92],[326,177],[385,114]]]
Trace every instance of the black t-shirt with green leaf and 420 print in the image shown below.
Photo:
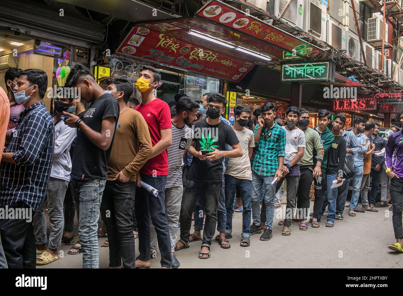
[[[214,151],[213,147],[225,151],[225,144],[232,146],[239,143],[231,126],[222,121],[217,125],[210,125],[206,119],[195,122],[193,141],[196,142],[196,151],[210,150],[211,152]],[[213,161],[193,157],[188,178],[199,181],[221,181],[223,160],[223,157]]]

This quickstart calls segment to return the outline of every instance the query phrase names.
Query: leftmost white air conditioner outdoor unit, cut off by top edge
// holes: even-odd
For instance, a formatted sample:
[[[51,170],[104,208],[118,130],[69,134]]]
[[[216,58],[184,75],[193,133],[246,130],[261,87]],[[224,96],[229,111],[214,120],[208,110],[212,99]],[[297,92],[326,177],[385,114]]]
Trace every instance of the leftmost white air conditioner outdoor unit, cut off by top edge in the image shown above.
[[[287,3],[288,0],[267,0],[266,10],[276,17],[279,17]],[[303,0],[291,0],[281,16],[281,19],[302,30]]]

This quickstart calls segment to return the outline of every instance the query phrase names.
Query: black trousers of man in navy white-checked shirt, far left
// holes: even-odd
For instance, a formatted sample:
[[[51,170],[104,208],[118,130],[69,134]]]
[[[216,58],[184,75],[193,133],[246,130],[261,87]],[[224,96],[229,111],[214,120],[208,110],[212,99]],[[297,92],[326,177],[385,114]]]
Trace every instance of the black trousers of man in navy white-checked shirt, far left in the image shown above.
[[[29,211],[27,219],[0,219],[0,235],[8,268],[36,268],[35,235],[33,215],[29,206],[22,201],[13,203],[8,209]]]

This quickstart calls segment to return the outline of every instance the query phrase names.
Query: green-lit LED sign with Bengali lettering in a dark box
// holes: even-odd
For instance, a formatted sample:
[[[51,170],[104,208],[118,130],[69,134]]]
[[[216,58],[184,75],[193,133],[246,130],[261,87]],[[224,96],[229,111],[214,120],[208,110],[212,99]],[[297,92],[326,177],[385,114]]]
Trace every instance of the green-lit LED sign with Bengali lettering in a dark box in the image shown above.
[[[331,61],[295,62],[281,65],[281,82],[334,81],[335,68]]]

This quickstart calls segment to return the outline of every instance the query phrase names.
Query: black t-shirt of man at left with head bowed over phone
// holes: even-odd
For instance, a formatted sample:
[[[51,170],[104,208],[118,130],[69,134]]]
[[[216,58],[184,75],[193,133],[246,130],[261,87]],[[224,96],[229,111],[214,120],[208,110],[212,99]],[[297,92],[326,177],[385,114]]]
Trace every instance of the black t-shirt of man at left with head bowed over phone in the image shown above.
[[[79,117],[87,126],[96,132],[101,132],[102,120],[107,117],[114,117],[117,124],[119,112],[118,101],[112,95],[106,93],[91,103],[90,108],[80,113]],[[79,130],[73,153],[71,178],[85,181],[107,179],[108,159],[115,137],[116,124],[115,129],[109,133],[109,136],[112,137],[112,142],[106,151],[92,143],[84,132]]]

